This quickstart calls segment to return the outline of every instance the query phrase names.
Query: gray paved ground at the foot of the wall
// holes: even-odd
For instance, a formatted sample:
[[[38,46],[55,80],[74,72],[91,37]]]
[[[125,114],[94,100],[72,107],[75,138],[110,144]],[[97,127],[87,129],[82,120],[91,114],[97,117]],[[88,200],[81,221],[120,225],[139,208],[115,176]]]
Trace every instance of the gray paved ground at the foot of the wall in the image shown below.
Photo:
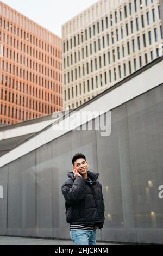
[[[70,240],[0,236],[0,245],[73,245],[73,243]],[[115,243],[97,242],[96,245],[115,245]]]

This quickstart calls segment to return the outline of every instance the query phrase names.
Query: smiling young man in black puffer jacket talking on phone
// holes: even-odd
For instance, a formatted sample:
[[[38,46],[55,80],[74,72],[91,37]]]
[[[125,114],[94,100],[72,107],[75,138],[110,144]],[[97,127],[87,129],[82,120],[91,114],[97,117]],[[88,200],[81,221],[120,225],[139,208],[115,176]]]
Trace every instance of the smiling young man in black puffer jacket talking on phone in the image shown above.
[[[66,221],[74,245],[96,245],[96,229],[104,224],[104,200],[98,173],[88,171],[89,163],[82,153],[73,156],[76,167],[68,172],[62,185],[65,198]]]

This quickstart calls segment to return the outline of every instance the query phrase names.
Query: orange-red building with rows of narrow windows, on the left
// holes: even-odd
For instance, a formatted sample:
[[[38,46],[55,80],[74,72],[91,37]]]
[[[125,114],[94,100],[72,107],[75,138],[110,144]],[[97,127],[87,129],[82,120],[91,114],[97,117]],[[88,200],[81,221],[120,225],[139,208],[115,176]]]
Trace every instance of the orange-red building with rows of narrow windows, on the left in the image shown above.
[[[62,111],[61,39],[0,1],[0,124]]]

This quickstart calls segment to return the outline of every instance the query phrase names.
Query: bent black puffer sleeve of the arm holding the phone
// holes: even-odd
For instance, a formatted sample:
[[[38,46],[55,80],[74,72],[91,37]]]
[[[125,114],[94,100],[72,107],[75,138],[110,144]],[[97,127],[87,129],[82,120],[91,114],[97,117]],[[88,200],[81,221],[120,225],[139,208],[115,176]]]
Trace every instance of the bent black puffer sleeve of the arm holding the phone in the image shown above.
[[[73,182],[71,178],[67,178],[61,190],[68,204],[76,204],[85,196],[85,180],[77,177]]]

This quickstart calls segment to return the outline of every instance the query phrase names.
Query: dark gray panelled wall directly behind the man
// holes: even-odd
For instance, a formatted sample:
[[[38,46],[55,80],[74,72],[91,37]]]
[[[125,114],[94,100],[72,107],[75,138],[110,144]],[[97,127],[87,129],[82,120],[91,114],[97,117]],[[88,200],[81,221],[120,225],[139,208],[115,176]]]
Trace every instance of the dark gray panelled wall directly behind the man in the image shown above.
[[[70,238],[61,185],[82,152],[99,172],[105,223],[97,240],[163,243],[163,86],[111,111],[111,135],[71,131],[0,168],[0,235]]]

